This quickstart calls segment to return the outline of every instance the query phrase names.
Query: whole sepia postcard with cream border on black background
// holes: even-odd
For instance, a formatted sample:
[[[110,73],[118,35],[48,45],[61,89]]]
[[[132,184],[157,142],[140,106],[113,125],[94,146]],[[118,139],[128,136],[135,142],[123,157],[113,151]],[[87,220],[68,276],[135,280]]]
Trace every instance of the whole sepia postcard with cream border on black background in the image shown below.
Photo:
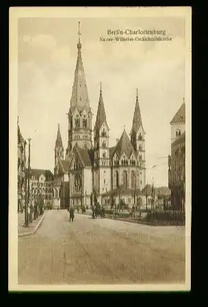
[[[9,291],[190,291],[192,9],[10,8]]]

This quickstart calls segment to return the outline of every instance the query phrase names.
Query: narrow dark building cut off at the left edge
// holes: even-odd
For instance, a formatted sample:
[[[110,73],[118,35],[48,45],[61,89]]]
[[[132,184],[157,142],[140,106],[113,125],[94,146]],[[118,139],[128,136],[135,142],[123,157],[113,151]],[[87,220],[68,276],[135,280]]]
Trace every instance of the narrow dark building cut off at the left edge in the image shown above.
[[[18,212],[25,206],[25,169],[26,169],[26,140],[21,134],[20,127],[17,123],[17,148],[18,148]]]

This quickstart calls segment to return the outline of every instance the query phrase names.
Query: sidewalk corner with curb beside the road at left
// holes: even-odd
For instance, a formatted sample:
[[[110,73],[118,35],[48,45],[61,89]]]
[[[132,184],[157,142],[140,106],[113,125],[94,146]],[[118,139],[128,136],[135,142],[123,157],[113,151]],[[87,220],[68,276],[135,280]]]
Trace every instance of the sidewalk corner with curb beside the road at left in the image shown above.
[[[24,227],[25,213],[18,213],[18,236],[29,236],[31,234],[34,234],[34,232],[36,232],[36,230],[40,226],[42,219],[44,219],[45,213],[46,212],[40,215],[38,219],[33,220],[32,223],[29,223],[29,226],[27,228]]]

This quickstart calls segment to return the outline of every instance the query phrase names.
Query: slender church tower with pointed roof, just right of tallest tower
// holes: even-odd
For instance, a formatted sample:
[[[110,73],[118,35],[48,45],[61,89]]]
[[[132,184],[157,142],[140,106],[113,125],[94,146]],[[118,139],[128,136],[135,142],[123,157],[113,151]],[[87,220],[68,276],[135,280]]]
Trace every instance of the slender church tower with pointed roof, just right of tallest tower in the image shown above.
[[[99,194],[110,189],[109,127],[105,115],[102,86],[94,125],[94,187]]]

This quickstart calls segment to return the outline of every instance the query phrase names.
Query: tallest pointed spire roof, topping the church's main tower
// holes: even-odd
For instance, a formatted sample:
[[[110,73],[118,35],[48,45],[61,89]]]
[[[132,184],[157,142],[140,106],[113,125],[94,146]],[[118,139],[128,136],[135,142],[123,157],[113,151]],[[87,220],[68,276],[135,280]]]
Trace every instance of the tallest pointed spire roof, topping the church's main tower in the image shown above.
[[[73,83],[73,92],[70,99],[70,110],[73,112],[77,108],[78,112],[81,112],[84,107],[90,108],[90,102],[88,97],[88,88],[86,84],[86,75],[83,69],[83,62],[81,58],[81,42],[79,34],[79,42],[77,44],[78,55],[77,64],[75,68],[75,77]]]

